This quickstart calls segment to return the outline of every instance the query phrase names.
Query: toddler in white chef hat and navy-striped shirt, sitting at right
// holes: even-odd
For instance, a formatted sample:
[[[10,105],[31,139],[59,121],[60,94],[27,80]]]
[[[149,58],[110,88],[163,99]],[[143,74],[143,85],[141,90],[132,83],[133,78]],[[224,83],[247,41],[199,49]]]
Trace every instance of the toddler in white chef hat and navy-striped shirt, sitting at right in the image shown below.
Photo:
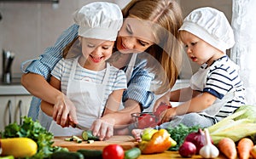
[[[160,102],[183,98],[182,105],[162,113],[160,128],[179,123],[209,127],[245,105],[239,68],[226,54],[235,43],[234,34],[225,15],[212,8],[192,11],[179,32],[189,58],[201,67],[191,77],[189,88],[165,94],[154,110]]]

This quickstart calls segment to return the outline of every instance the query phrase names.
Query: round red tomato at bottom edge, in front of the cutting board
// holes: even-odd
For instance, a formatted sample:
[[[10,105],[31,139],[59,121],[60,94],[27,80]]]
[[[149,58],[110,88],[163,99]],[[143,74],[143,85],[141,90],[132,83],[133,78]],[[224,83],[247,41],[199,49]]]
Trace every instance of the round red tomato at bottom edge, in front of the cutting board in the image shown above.
[[[102,151],[103,159],[123,159],[125,150],[120,145],[107,145]]]

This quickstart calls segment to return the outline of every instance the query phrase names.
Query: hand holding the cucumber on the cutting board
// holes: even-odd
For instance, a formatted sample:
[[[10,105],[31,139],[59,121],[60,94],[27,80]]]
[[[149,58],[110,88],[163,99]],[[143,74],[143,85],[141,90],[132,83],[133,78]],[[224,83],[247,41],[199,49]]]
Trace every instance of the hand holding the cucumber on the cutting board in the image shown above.
[[[91,130],[93,135],[98,136],[100,140],[109,139],[113,136],[113,118],[101,118],[92,123]]]

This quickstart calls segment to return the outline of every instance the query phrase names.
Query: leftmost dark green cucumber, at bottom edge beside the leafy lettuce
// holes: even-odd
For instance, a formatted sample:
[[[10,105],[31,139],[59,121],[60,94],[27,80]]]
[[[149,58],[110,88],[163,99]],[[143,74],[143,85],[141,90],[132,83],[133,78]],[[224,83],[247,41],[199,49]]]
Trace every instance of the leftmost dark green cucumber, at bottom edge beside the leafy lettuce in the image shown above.
[[[84,156],[79,152],[57,151],[57,152],[54,152],[50,156],[50,158],[51,159],[84,159]]]

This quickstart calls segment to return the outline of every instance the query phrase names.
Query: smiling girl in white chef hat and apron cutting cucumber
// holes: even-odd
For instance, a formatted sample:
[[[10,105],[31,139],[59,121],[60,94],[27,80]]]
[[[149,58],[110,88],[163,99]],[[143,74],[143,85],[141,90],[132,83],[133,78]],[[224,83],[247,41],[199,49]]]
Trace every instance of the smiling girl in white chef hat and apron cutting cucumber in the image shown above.
[[[125,72],[106,62],[113,53],[123,16],[118,5],[96,2],[74,13],[74,21],[79,25],[82,54],[61,59],[51,72],[49,83],[67,95],[76,108],[79,125],[89,129],[103,114],[118,111],[126,88]],[[72,47],[69,50],[68,54],[75,51]],[[42,101],[41,109],[52,116],[53,105]],[[81,135],[82,131],[61,128],[56,122],[49,127],[55,136]]]

